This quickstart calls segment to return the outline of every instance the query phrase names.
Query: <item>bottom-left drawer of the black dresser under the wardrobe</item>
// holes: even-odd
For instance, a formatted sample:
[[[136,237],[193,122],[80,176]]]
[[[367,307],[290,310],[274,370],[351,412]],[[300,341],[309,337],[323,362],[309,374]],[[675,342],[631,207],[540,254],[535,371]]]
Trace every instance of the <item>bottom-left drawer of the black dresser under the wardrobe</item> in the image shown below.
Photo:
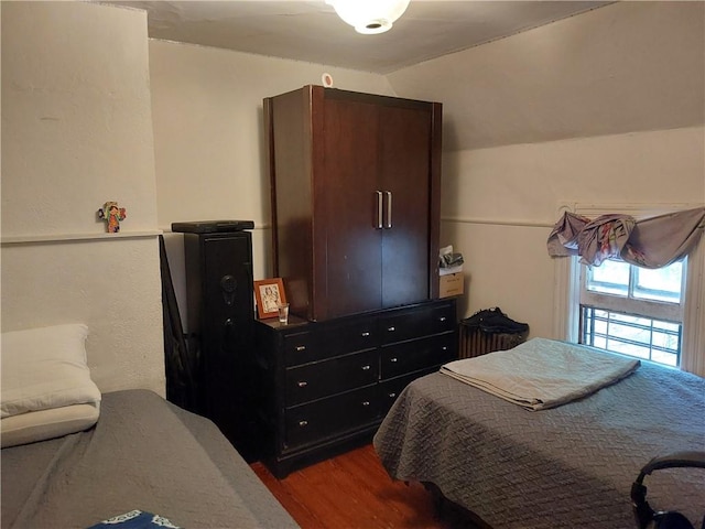
[[[285,410],[285,443],[296,447],[371,423],[378,414],[378,386],[368,386]]]

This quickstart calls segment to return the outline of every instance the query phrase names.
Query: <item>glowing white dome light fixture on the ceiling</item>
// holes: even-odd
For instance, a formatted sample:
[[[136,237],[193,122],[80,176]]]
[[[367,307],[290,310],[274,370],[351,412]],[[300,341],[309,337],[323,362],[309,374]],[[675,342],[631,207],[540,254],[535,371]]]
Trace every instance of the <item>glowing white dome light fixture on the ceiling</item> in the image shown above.
[[[355,31],[366,35],[384,33],[401,17],[410,0],[326,0]]]

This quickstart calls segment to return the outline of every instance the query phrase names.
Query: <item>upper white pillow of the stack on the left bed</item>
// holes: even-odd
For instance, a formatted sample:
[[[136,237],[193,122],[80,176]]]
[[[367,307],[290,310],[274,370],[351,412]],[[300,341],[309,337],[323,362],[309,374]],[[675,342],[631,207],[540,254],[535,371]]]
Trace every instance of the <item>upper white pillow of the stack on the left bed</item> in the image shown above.
[[[2,333],[0,417],[100,402],[86,363],[87,336],[83,324]]]

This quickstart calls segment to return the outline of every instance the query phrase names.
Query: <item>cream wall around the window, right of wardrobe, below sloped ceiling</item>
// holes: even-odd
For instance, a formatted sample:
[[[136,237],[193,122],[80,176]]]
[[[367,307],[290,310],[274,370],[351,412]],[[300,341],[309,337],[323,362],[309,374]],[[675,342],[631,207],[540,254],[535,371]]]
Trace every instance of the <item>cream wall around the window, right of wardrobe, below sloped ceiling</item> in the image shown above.
[[[442,244],[465,257],[465,312],[500,306],[552,337],[558,204],[704,204],[704,145],[692,127],[447,153]]]

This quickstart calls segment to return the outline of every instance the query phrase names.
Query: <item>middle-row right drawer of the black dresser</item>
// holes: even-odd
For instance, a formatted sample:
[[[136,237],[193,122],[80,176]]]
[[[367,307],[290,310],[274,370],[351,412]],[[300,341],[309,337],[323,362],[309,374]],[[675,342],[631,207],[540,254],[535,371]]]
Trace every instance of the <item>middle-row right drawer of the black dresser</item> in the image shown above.
[[[383,347],[380,378],[386,380],[454,360],[456,346],[456,334],[446,333]]]

